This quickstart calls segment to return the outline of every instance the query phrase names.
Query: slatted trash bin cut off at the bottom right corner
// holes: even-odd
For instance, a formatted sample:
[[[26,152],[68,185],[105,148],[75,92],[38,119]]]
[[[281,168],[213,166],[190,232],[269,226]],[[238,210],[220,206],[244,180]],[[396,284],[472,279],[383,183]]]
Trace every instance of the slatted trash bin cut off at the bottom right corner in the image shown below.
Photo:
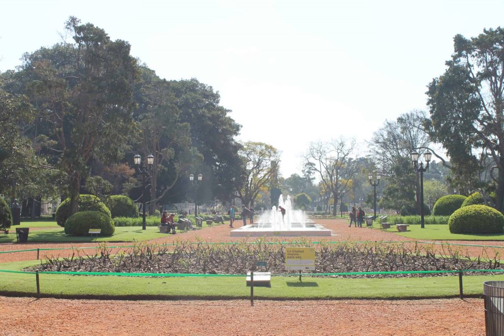
[[[483,283],[487,336],[504,335],[504,281]]]

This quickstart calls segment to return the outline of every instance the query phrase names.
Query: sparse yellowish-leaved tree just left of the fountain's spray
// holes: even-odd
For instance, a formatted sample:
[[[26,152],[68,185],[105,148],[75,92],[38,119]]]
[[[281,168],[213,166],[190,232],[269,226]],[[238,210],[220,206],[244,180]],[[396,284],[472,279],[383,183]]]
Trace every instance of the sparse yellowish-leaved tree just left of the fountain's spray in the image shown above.
[[[277,173],[280,154],[271,145],[260,142],[246,142],[239,151],[244,175],[241,177],[241,187],[238,197],[245,206],[254,205],[261,190]],[[272,199],[274,202],[275,199]]]

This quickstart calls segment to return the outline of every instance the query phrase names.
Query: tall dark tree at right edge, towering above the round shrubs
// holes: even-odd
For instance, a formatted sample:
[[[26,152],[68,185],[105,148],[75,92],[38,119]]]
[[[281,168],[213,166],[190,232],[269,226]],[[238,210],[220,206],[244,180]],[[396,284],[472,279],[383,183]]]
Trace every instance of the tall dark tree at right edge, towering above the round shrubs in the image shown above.
[[[428,86],[427,123],[433,140],[447,150],[454,169],[475,176],[477,154],[493,160],[496,208],[504,210],[504,30],[485,29],[477,37],[454,37],[447,70]]]

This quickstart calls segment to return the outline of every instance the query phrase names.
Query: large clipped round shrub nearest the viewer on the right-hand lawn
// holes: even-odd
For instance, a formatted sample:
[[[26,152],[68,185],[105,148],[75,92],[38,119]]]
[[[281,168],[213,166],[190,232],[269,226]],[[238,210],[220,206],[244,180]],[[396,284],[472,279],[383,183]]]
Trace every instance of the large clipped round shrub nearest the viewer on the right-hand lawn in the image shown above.
[[[467,206],[455,211],[448,225],[451,233],[502,233],[504,216],[488,206]]]

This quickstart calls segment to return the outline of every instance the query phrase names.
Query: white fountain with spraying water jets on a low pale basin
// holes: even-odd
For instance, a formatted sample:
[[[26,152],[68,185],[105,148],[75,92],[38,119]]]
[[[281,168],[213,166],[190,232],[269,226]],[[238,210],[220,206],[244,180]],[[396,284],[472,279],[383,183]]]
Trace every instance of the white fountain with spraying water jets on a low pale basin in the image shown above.
[[[280,208],[285,209],[282,216]],[[239,223],[236,221],[235,223]],[[257,222],[231,231],[231,237],[298,237],[298,236],[330,236],[331,230],[306,218],[302,210],[292,209],[290,196],[284,199],[280,195],[278,208],[273,206],[265,211]]]

